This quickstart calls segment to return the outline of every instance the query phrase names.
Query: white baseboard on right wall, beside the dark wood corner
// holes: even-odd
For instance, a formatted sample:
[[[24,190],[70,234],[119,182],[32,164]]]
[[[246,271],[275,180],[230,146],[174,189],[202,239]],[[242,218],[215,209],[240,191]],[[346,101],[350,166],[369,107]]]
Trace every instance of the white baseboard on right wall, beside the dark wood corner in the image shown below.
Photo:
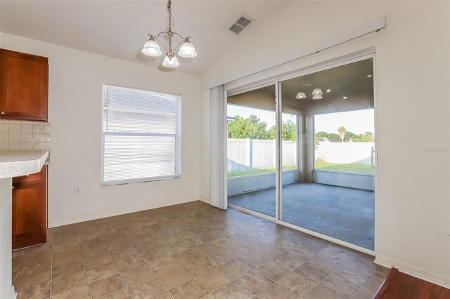
[[[414,267],[406,263],[399,262],[397,260],[392,260],[383,255],[376,255],[373,263],[387,268],[394,267],[398,269],[400,272],[409,274],[413,277],[417,277],[418,279],[429,281],[432,284],[437,284],[438,286],[443,286],[444,288],[450,288],[450,279],[448,277],[442,277],[437,274],[432,274],[428,271],[421,270],[418,267]]]

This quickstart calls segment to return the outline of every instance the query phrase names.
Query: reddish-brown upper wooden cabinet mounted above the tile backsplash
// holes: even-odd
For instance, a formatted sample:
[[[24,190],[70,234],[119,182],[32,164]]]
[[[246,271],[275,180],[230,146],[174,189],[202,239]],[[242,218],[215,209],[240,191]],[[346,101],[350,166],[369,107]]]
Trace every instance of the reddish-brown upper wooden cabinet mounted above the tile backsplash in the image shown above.
[[[49,59],[0,52],[0,119],[47,121]]]

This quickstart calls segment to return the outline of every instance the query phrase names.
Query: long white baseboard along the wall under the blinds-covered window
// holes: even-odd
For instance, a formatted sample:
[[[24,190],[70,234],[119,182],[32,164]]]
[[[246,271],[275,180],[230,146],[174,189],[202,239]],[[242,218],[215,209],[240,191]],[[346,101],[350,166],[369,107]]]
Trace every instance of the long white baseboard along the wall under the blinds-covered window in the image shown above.
[[[198,200],[199,199],[191,199],[191,200],[187,200],[187,201],[186,200],[176,201],[176,202],[173,202],[173,203],[165,205],[165,206],[174,206],[176,204],[186,204],[187,202],[198,201]],[[59,220],[49,220],[49,228],[63,226],[63,225],[70,225],[70,224],[89,221],[89,220],[113,217],[113,216],[117,216],[117,215],[123,215],[123,214],[128,214],[128,213],[139,212],[139,211],[146,211],[146,210],[150,210],[153,208],[162,208],[165,206],[141,206],[139,208],[133,207],[133,208],[121,209],[121,210],[108,212],[108,213],[95,213],[95,214],[88,214],[88,215],[79,215],[79,216],[65,218],[65,219],[59,219]]]

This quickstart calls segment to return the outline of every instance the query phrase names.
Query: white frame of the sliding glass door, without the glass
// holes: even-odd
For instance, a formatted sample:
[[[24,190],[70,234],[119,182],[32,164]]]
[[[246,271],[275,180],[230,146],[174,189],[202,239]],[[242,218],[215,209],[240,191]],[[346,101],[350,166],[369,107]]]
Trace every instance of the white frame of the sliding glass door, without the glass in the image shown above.
[[[283,165],[283,160],[282,160],[282,134],[281,134],[281,128],[282,128],[282,124],[281,121],[282,119],[282,114],[283,114],[283,99],[281,97],[281,83],[283,81],[289,80],[289,79],[293,79],[293,78],[297,78],[297,77],[302,77],[305,76],[307,74],[313,74],[316,72],[321,72],[323,70],[326,69],[331,69],[334,67],[340,67],[342,65],[348,65],[350,63],[353,62],[359,62],[361,60],[367,60],[372,58],[372,62],[373,62],[373,110],[374,110],[374,119],[375,119],[375,130],[374,130],[374,137],[375,137],[375,154],[374,154],[374,169],[373,169],[373,179],[375,181],[375,188],[374,188],[374,192],[375,192],[375,223],[374,223],[374,250],[368,249],[368,248],[364,248],[362,246],[358,246],[352,243],[349,243],[347,241],[342,241],[340,239],[336,239],[334,237],[330,237],[326,234],[321,234],[319,232],[315,232],[313,230],[308,230],[304,227],[300,227],[297,225],[293,225],[289,222],[285,222],[283,220],[281,220],[281,203],[283,201],[282,198],[282,194],[283,194],[283,171],[282,171],[282,165]],[[319,237],[321,239],[325,239],[327,241],[331,241],[335,244],[339,244],[342,246],[345,246],[347,248],[351,248],[354,249],[355,251],[359,251],[362,253],[366,253],[368,255],[373,255],[375,256],[375,254],[378,252],[378,178],[377,178],[377,160],[378,160],[378,147],[377,147],[377,140],[378,140],[378,122],[377,122],[377,94],[376,94],[376,79],[377,79],[377,75],[376,75],[376,62],[375,62],[375,50],[373,51],[368,51],[366,53],[359,53],[354,55],[353,57],[347,57],[344,58],[342,60],[336,60],[335,62],[330,62],[328,64],[324,64],[321,67],[311,67],[309,69],[304,69],[301,72],[291,72],[288,75],[285,74],[280,74],[276,79],[267,79],[266,81],[261,82],[255,82],[255,84],[250,84],[247,86],[244,86],[243,88],[233,88],[231,91],[229,91],[229,95],[236,95],[239,93],[244,93],[247,91],[252,91],[258,88],[262,88],[264,86],[268,86],[271,84],[275,84],[275,100],[276,100],[276,201],[275,201],[275,218],[268,216],[268,215],[264,215],[262,213],[258,213],[255,211],[251,211],[247,208],[242,208],[233,204],[228,204],[231,208],[236,208],[239,211],[243,211],[245,213],[249,213],[250,215],[255,215],[259,218],[263,218],[272,222],[276,222],[277,224],[280,225],[284,225],[286,227],[290,227],[294,230],[298,230],[300,232],[304,232],[307,234],[311,234],[315,237]],[[224,124],[226,126],[226,124]],[[297,121],[297,131],[298,131],[298,121]],[[298,138],[297,138],[298,140]],[[298,141],[297,141],[298,143]],[[225,144],[226,147],[226,144]],[[298,144],[297,144],[298,147]],[[299,157],[298,157],[298,151],[297,151],[297,166],[299,165],[300,161],[299,161]],[[226,157],[225,157],[226,159]],[[226,170],[225,170],[226,171]],[[226,179],[226,175],[224,176]]]

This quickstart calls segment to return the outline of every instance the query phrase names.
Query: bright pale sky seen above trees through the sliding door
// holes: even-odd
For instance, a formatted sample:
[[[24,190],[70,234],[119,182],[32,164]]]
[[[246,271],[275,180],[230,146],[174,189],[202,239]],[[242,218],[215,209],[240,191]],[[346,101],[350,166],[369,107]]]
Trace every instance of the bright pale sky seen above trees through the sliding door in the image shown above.
[[[240,115],[241,117],[248,118],[250,114],[256,114],[261,121],[265,121],[267,128],[274,126],[275,124],[275,112],[263,109],[256,109],[250,107],[243,107],[238,105],[227,105],[227,115],[234,117]],[[293,114],[284,114],[283,120],[294,120]],[[340,126],[345,126],[347,131],[355,134],[364,134],[364,132],[374,133],[375,129],[375,117],[373,109],[357,110],[351,112],[338,112],[329,114],[318,114],[315,117],[316,133],[325,131],[327,133],[338,133]]]

